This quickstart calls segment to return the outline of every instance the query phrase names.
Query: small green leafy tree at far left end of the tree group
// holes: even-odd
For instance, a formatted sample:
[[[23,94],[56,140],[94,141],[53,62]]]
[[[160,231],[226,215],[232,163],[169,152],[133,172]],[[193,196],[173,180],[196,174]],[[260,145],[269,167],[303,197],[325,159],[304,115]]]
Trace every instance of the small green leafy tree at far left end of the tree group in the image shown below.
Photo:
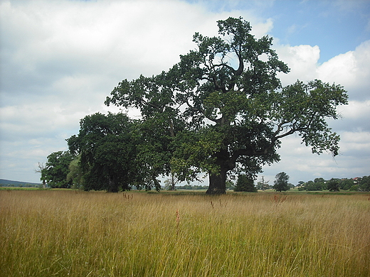
[[[67,175],[72,160],[73,154],[69,151],[53,152],[48,156],[43,178],[51,188],[70,188],[72,182],[67,180]]]

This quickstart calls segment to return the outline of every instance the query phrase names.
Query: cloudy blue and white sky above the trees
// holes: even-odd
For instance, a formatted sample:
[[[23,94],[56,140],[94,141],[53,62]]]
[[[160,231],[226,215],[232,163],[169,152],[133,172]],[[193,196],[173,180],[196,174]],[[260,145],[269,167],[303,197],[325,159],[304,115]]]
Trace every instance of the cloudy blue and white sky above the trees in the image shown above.
[[[282,85],[317,78],[349,94],[330,121],[341,155],[317,156],[292,136],[265,180],[370,175],[370,1],[0,0],[0,178],[38,183],[38,162],[67,150],[80,119],[117,112],[104,101],[118,82],[168,70],[195,32],[215,36],[228,16],[274,38],[291,68]]]

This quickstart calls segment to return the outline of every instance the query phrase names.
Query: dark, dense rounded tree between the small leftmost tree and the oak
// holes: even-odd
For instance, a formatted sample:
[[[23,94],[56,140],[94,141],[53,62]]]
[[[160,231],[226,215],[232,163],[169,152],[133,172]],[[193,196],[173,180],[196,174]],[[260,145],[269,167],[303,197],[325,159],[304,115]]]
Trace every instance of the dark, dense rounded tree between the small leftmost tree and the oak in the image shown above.
[[[85,190],[118,192],[144,183],[137,163],[136,122],[125,114],[92,114],[80,121],[78,136],[68,139],[72,153],[80,154]]]

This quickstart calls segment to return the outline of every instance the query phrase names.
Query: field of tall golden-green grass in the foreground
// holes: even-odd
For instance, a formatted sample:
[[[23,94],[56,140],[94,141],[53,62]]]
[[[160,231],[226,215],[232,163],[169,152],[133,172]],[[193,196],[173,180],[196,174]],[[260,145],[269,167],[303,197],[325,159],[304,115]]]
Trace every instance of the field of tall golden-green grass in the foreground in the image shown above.
[[[0,276],[370,276],[370,195],[0,190]]]

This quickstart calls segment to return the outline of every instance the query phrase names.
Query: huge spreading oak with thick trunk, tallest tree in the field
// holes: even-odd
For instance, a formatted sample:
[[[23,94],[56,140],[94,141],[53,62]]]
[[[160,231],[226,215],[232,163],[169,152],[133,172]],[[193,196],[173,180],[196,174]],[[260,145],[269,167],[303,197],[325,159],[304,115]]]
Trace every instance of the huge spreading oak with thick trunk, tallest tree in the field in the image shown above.
[[[297,133],[312,153],[338,154],[339,136],[326,119],[337,119],[337,105],[347,104],[344,89],[319,80],[282,88],[277,72],[289,69],[271,49],[272,38],[250,31],[242,18],[218,21],[220,36],[196,33],[197,49],[168,72],[123,80],[105,102],[139,109],[171,149],[162,172],[171,167],[180,180],[206,172],[208,194],[226,192],[230,170],[255,176],[279,161],[285,136]]]

